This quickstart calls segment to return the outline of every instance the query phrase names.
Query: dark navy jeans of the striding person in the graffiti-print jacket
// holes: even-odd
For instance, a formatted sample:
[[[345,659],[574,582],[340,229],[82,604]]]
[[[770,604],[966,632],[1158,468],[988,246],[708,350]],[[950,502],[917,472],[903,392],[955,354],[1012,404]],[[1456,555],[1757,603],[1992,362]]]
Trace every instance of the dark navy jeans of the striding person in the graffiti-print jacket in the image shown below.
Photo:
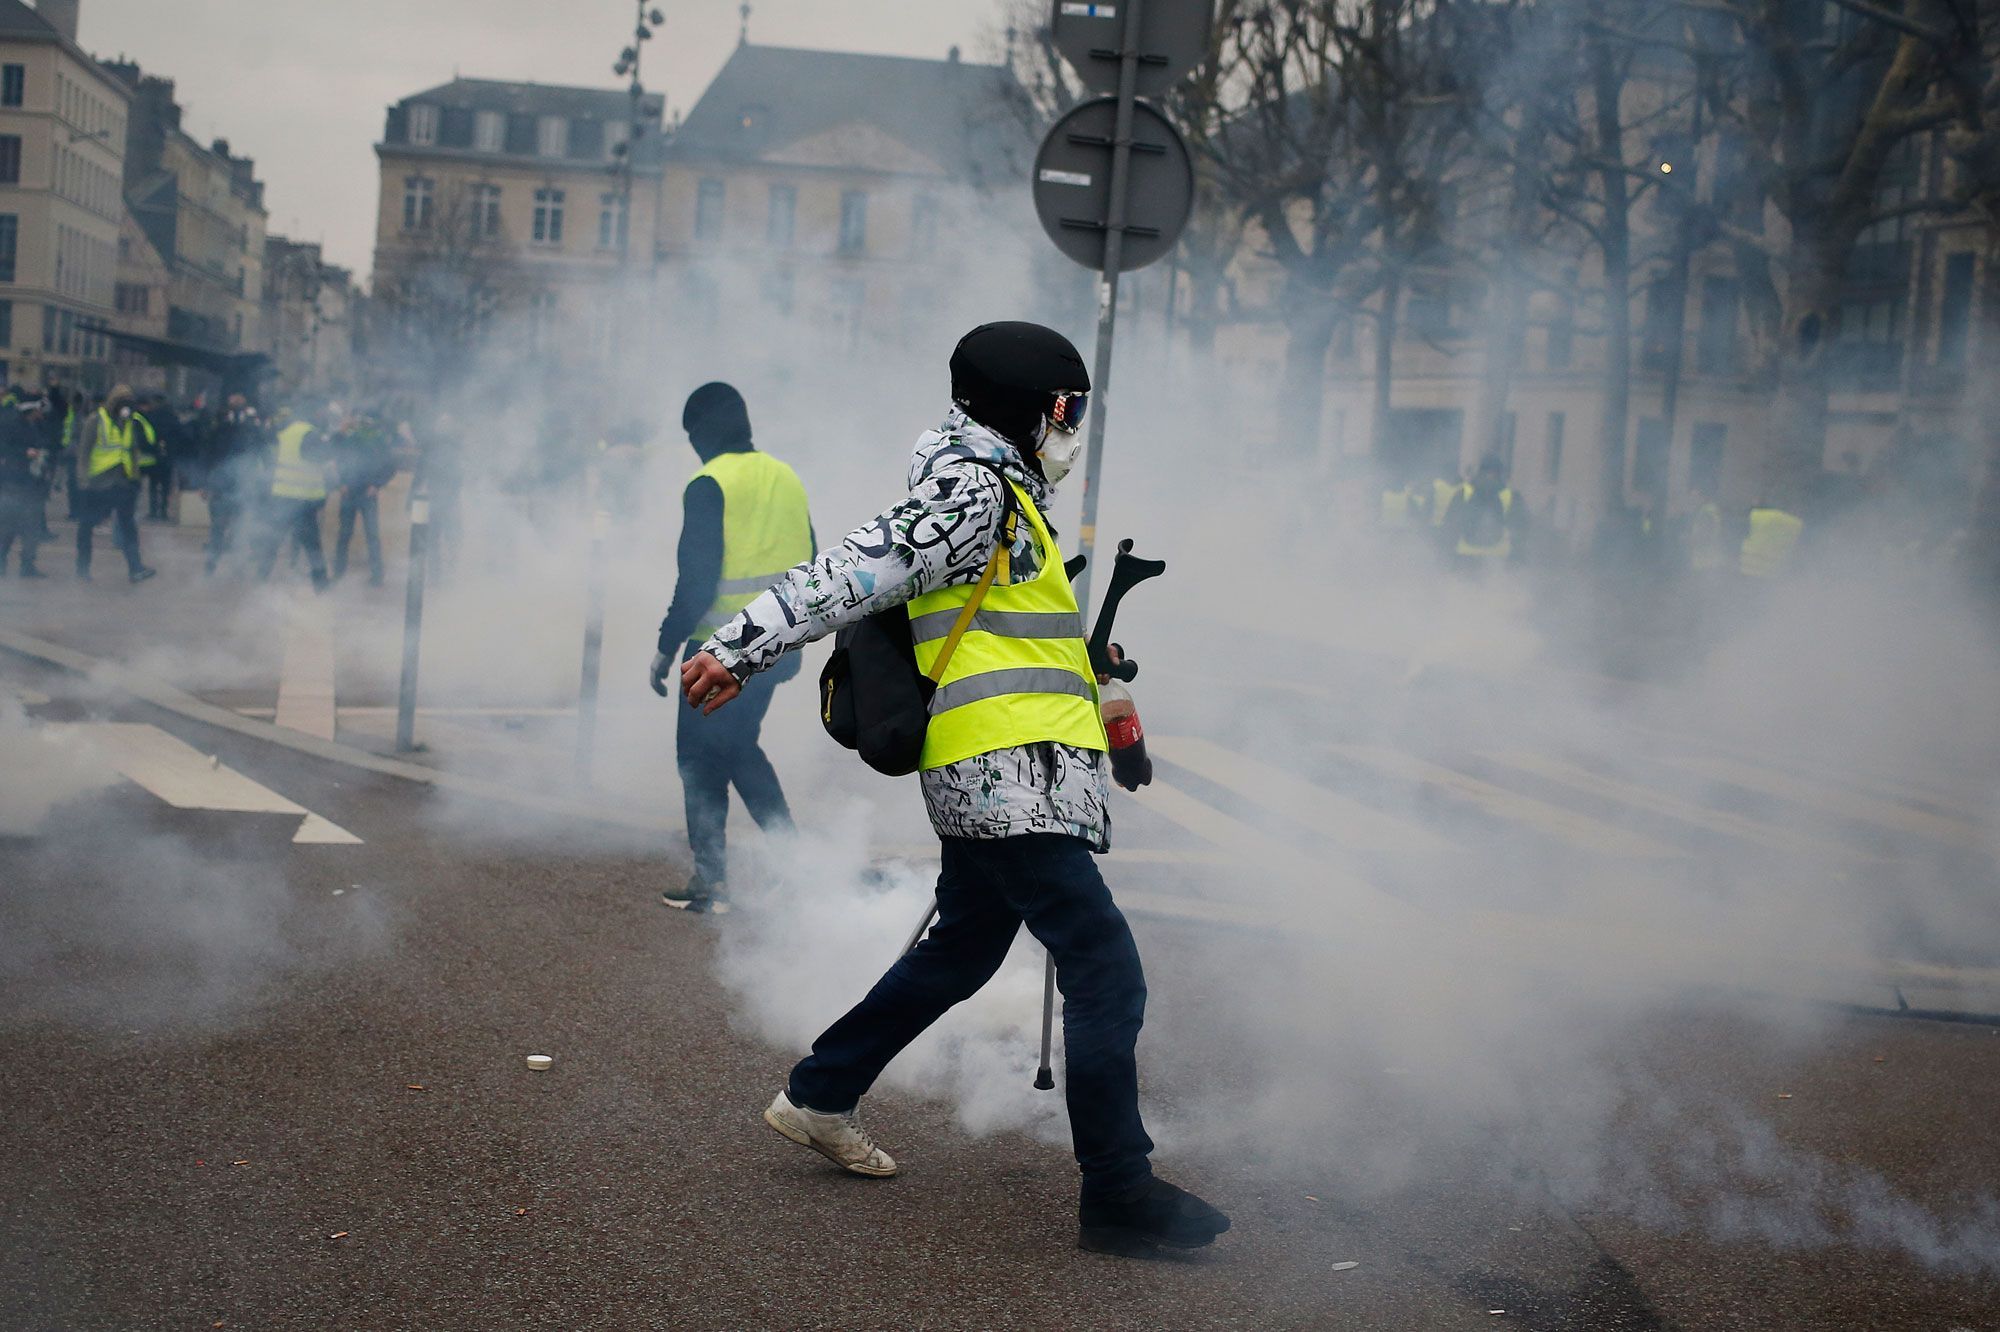
[[[938,924],[812,1042],[792,1070],[792,1102],[826,1114],[852,1110],[904,1046],[1000,970],[1022,924],[1056,958],[1062,1088],[1084,1198],[1142,1184],[1152,1174],[1152,1138],[1138,1116],[1134,1046],[1146,1020],[1146,974],[1088,844],[1058,832],[944,838]]]

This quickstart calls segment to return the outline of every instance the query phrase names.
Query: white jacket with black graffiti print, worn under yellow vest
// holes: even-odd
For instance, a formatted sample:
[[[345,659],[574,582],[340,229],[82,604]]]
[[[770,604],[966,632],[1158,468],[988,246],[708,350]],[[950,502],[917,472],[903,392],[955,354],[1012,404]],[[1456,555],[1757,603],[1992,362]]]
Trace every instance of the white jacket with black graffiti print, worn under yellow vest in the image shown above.
[[[916,440],[910,496],[800,564],[718,628],[704,650],[738,680],[768,670],[784,652],[878,610],[956,584],[978,582],[1006,518],[1000,480],[972,460],[998,464],[1036,506],[1050,486],[1004,438],[952,412]],[[1010,578],[1040,572],[1034,532],[1022,524],[1008,552]],[[1066,744],[1030,744],[924,772],[930,824],[944,838],[1010,838],[1062,832],[1098,850],[1110,846],[1104,754]]]

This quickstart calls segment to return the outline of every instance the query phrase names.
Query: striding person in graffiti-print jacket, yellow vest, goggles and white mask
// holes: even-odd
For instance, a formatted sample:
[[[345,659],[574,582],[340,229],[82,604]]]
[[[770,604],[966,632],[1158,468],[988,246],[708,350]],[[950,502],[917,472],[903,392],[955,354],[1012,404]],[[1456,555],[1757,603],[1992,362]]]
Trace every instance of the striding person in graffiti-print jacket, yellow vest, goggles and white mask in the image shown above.
[[[988,624],[960,638],[924,738],[924,802],[944,844],[938,922],[814,1042],[764,1120],[854,1174],[896,1174],[860,1124],[860,1096],[986,984],[1026,924],[1064,994],[1078,1242],[1128,1256],[1200,1248],[1230,1222],[1148,1162],[1134,1056],[1146,980],[1092,860],[1110,846],[1106,734],[1082,616],[1042,516],[1082,450],[1090,376],[1076,348],[1038,324],[974,328],[950,368],[954,408],[918,438],[910,496],[780,578],[680,670],[690,706],[712,712],[786,652],[898,604],[922,666],[1006,548],[980,604]]]

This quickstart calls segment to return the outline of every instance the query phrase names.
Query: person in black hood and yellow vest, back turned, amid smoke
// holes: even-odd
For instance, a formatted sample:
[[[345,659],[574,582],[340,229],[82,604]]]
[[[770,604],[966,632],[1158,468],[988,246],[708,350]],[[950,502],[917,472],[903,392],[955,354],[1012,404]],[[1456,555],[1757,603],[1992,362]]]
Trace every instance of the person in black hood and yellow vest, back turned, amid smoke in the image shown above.
[[[798,472],[750,442],[750,410],[728,384],[702,384],[680,414],[702,470],[682,492],[680,574],[674,602],[660,622],[652,658],[652,692],[668,694],[668,678],[724,620],[742,610],[784,570],[812,558],[812,518]],[[680,716],[674,756],[688,800],[688,844],[694,878],[666,888],[660,902],[678,910],[726,912],[730,786],[758,828],[790,832],[778,770],[758,744],[764,712],[778,684],[798,674],[798,658],[756,676],[722,716]]]

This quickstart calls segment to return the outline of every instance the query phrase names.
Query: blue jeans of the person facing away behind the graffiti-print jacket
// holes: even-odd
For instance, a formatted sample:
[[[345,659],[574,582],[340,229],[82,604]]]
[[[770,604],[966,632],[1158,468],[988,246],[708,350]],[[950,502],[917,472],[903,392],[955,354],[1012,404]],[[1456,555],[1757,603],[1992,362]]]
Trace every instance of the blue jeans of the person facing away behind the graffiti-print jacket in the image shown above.
[[[688,846],[694,850],[694,872],[710,890],[728,884],[730,786],[736,786],[758,828],[792,828],[792,808],[784,802],[778,770],[758,744],[778,684],[766,670],[744,680],[744,692],[710,716],[680,708],[674,758],[680,766],[680,790],[688,798]]]

